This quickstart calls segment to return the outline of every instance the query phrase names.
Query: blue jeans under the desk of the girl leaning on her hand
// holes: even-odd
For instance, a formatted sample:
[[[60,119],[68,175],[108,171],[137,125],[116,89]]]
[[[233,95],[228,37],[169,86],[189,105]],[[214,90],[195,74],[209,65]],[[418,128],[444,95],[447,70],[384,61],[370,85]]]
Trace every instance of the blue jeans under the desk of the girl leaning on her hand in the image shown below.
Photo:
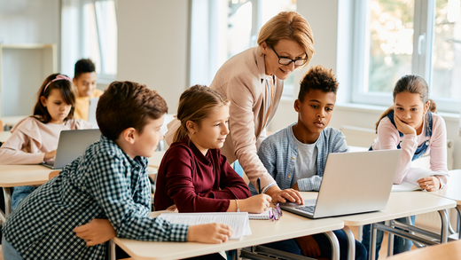
[[[415,216],[411,216],[411,225],[415,225]],[[399,222],[409,224],[407,222],[406,217],[396,219]],[[379,224],[383,224],[384,222],[380,222]],[[371,225],[363,225],[363,236],[362,236],[362,243],[363,246],[370,251],[370,237],[371,237]],[[379,250],[381,249],[381,244],[383,242],[384,232],[377,230],[376,231],[376,254],[375,259],[378,260],[379,257]],[[410,251],[411,247],[413,246],[413,242],[411,240],[406,240],[398,236],[394,236],[394,255]],[[368,258],[368,256],[367,256]]]

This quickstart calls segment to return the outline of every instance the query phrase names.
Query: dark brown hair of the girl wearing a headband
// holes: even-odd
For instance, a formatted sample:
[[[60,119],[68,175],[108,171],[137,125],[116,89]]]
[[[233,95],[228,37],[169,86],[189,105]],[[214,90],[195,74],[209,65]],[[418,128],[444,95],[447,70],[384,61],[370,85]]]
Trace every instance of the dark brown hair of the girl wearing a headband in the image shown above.
[[[64,102],[66,102],[67,105],[72,106],[70,108],[69,114],[67,114],[67,117],[64,119],[64,122],[67,122],[67,120],[74,118],[75,95],[72,89],[72,83],[65,79],[52,82],[52,80],[56,79],[58,75],[61,75],[61,74],[57,73],[57,74],[49,75],[43,81],[42,86],[40,87],[40,90],[37,92],[37,102],[35,103],[34,114],[32,116],[35,117],[40,122],[43,122],[43,123],[51,122],[51,119],[52,119],[51,114],[48,112],[48,109],[45,106],[43,106],[40,98],[41,97],[48,98],[52,90],[59,90]],[[45,87],[47,84],[49,85],[45,90]]]

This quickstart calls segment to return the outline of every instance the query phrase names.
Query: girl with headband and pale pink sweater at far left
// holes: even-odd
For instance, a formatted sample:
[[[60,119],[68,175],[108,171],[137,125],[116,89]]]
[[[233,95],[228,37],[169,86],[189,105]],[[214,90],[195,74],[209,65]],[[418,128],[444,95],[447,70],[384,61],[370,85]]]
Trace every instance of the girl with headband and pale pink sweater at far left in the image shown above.
[[[0,147],[0,164],[38,164],[54,160],[61,130],[90,129],[91,124],[73,118],[75,98],[70,78],[48,76],[37,93],[34,114],[12,128],[12,136]],[[35,190],[18,186],[12,191],[12,209]]]

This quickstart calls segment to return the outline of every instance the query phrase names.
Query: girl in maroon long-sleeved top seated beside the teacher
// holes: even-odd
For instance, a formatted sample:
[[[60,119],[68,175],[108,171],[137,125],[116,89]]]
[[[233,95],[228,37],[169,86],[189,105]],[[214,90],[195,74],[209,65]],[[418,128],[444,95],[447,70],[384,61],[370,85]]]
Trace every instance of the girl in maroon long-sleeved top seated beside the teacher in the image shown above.
[[[250,197],[245,181],[219,150],[229,134],[229,104],[206,86],[192,86],[181,95],[181,126],[160,163],[155,210],[176,205],[179,212],[261,213],[270,207],[269,195]]]

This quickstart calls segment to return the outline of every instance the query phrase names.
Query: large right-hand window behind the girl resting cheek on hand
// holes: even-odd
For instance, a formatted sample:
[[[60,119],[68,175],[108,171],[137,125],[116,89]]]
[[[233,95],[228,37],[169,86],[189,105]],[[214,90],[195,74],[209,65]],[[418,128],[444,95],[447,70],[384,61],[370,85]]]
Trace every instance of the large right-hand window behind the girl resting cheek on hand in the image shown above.
[[[459,111],[459,0],[357,0],[355,12],[352,102],[390,106],[396,81],[415,74],[439,111]]]

